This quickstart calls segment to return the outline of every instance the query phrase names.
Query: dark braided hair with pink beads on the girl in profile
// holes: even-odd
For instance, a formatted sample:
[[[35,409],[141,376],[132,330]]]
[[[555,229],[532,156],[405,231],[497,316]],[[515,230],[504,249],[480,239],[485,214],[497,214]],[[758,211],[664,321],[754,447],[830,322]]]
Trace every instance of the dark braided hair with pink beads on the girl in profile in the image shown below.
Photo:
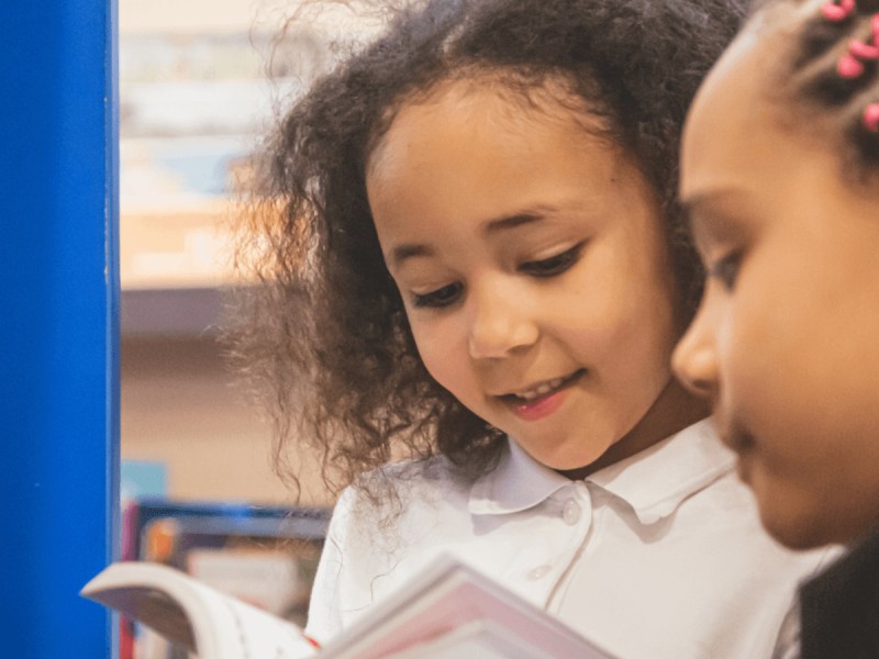
[[[839,0],[828,4],[842,9]],[[879,0],[857,0],[842,20],[828,20],[817,9],[802,19],[797,10],[803,5],[803,0],[758,0],[750,7],[754,16],[775,12],[770,20],[782,24],[800,21],[786,31],[790,48],[771,71],[770,92],[783,107],[803,101],[811,108],[810,121],[799,125],[809,125],[812,134],[822,130],[836,142],[846,176],[871,179],[879,172],[879,134],[864,116],[869,105],[879,103],[879,63],[861,60],[863,72],[853,77],[841,75],[838,67],[854,40],[879,46]]]

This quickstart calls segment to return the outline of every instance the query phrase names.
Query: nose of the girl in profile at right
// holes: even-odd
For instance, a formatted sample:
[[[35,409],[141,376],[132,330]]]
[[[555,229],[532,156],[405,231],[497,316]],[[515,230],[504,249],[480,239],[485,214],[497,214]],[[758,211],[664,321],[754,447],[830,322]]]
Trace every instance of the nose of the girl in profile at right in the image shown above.
[[[692,324],[675,348],[671,367],[687,389],[713,399],[717,391],[716,314],[703,300]]]

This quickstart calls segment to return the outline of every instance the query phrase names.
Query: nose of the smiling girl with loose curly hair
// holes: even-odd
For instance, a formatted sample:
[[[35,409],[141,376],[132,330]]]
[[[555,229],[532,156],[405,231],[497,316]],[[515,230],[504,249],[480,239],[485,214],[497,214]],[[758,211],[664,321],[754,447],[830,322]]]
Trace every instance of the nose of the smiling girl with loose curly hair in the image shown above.
[[[539,328],[526,301],[494,282],[471,288],[469,350],[474,359],[507,357],[537,343]]]

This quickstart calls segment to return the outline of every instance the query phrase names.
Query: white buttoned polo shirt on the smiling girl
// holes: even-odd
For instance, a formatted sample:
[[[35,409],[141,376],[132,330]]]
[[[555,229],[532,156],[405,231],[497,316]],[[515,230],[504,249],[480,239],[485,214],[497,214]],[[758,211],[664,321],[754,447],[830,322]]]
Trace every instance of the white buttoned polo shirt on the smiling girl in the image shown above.
[[[471,484],[444,459],[396,466],[398,515],[381,522],[355,489],[340,499],[309,633],[327,640],[453,554],[623,659],[793,652],[776,644],[795,588],[835,550],[777,545],[734,465],[706,420],[585,481],[513,440]]]

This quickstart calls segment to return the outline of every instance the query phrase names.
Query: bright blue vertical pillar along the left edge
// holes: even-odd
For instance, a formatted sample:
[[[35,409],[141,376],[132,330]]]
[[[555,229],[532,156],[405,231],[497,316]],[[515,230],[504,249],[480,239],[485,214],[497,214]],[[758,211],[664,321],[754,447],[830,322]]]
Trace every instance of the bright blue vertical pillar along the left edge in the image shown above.
[[[3,657],[110,656],[78,590],[115,556],[114,0],[0,2]]]

